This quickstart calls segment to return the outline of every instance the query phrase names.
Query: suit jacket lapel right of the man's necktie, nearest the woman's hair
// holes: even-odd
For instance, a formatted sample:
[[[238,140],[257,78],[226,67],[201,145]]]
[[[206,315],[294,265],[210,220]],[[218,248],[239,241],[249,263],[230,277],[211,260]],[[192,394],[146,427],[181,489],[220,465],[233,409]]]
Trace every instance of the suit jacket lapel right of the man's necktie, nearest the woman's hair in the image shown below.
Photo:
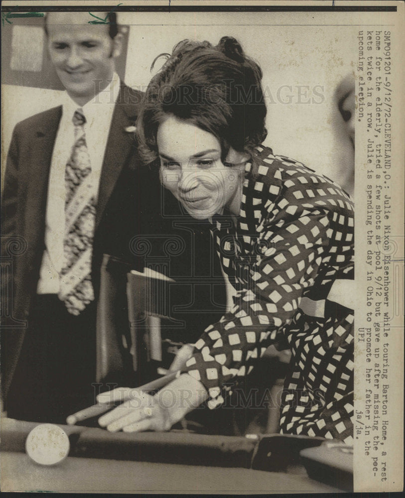
[[[100,176],[96,230],[124,165],[127,163],[129,156],[135,153],[134,133],[131,130],[126,130],[128,126],[134,126],[137,111],[137,106],[134,105],[134,102],[131,102],[132,96],[129,90],[125,85],[121,86],[113,119],[111,120]]]

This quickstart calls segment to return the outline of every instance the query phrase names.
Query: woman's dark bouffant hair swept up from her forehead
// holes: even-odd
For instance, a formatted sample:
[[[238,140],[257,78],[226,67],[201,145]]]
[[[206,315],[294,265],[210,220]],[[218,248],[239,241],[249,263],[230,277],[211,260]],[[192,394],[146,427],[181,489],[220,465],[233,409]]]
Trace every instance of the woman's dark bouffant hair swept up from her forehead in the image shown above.
[[[146,89],[137,121],[139,149],[147,163],[157,157],[157,128],[167,115],[216,136],[223,161],[230,147],[250,152],[263,142],[262,70],[235,38],[224,36],[217,46],[183,40],[171,55],[155,61],[161,56],[167,60]]]

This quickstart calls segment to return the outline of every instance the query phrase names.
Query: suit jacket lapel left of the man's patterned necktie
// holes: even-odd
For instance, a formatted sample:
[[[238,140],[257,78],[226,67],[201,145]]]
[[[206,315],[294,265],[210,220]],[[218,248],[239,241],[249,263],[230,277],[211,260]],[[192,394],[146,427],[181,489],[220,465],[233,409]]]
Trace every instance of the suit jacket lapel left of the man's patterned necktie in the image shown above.
[[[62,107],[51,109],[34,130],[25,205],[25,227],[31,247],[37,247],[44,240],[49,171],[61,116]]]

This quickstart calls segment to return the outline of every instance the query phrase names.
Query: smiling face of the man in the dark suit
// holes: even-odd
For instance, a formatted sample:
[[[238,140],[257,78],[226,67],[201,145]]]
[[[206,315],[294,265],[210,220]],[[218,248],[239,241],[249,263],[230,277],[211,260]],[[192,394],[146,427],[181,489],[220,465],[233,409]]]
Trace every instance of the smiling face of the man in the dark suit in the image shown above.
[[[79,105],[89,102],[113,78],[121,38],[108,24],[89,24],[86,12],[52,12],[47,18],[48,50],[56,73]]]

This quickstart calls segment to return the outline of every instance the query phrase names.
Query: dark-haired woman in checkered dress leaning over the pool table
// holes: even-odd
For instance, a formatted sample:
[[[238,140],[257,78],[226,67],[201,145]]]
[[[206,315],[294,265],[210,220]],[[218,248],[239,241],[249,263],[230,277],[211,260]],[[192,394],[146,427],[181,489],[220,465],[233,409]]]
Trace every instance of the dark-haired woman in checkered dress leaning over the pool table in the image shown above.
[[[262,71],[240,44],[183,40],[153,77],[138,119],[147,162],[196,219],[212,222],[234,305],[178,377],[99,419],[111,431],[168,430],[217,407],[267,347],[292,352],[280,432],[353,438],[353,204],[332,180],[273,154]],[[99,395],[122,399],[125,389]]]

